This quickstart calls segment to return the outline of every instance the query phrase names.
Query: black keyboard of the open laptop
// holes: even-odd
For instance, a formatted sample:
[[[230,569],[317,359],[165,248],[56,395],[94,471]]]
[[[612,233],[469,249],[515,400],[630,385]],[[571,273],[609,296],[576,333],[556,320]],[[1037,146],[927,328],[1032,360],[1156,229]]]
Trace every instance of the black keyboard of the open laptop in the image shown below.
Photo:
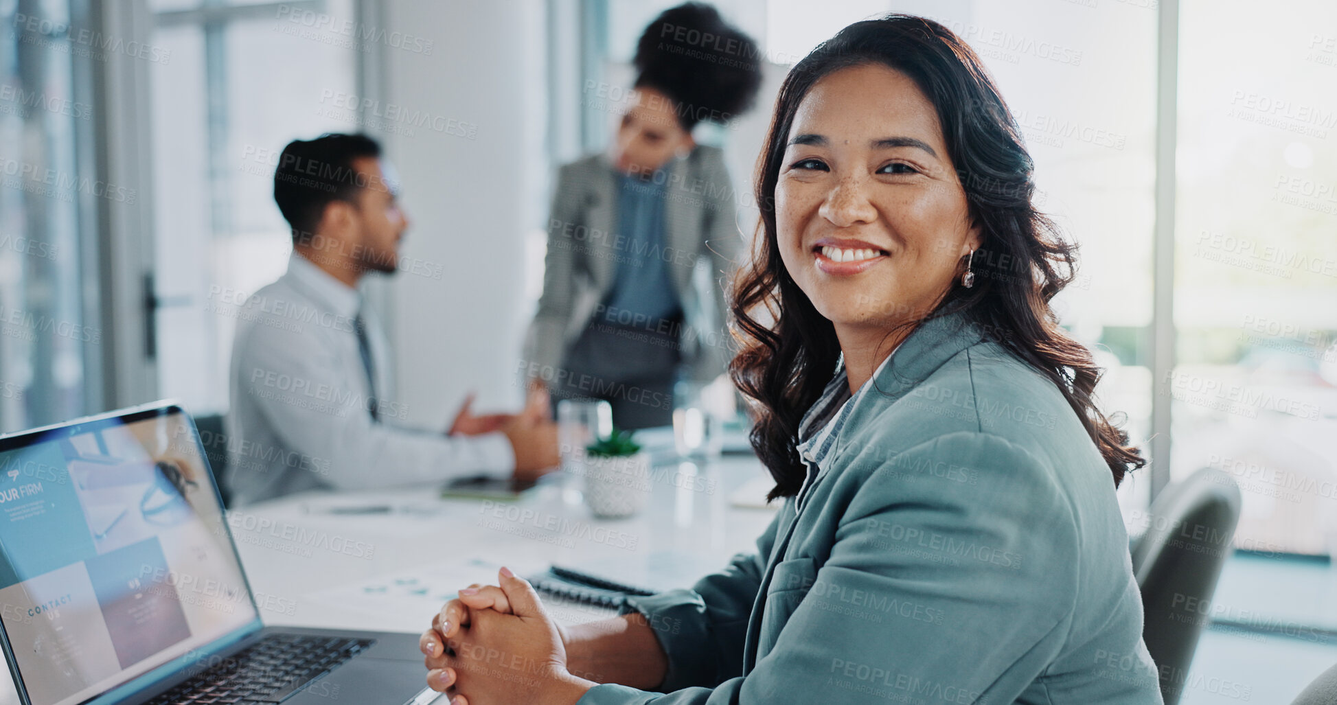
[[[146,705],[269,705],[353,658],[374,639],[270,634]]]

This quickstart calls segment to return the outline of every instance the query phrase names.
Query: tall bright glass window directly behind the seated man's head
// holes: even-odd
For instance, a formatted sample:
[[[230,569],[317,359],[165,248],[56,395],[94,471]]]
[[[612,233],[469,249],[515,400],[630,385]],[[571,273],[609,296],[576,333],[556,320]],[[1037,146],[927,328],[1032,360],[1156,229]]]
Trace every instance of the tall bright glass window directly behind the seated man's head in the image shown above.
[[[287,266],[271,197],[291,139],[373,130],[358,112],[364,49],[352,0],[154,0],[152,79],[159,395],[227,407],[239,305]],[[353,32],[346,32],[353,27]]]

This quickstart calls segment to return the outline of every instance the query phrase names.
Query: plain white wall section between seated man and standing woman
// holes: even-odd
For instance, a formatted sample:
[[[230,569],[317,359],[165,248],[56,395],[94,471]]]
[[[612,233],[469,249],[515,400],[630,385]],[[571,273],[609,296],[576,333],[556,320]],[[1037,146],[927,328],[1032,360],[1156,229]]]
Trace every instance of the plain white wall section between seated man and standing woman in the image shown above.
[[[440,281],[400,272],[389,285],[400,400],[436,428],[468,391],[476,408],[521,399],[524,234],[547,210],[544,4],[400,0],[386,25],[432,41],[429,55],[385,52],[386,108],[477,126],[473,139],[451,123],[381,131],[412,221],[401,257],[444,268]]]

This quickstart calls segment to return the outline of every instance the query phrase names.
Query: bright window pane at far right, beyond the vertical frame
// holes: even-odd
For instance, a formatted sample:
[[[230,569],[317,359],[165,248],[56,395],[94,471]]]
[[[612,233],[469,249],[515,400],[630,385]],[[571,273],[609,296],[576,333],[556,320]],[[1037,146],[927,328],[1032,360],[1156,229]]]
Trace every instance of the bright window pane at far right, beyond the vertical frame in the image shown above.
[[[1269,555],[1337,548],[1337,7],[1289,7],[1183,1],[1178,364],[1157,380],[1175,478],[1234,478],[1235,546]]]

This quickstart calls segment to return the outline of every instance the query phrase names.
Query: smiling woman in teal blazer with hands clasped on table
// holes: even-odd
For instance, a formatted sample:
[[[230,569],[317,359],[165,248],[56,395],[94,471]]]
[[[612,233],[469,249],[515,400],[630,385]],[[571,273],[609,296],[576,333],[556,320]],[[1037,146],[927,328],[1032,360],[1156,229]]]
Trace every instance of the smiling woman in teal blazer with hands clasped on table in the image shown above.
[[[567,630],[503,573],[424,634],[428,684],[457,705],[1162,702],[1114,494],[1140,460],[1050,309],[1074,258],[1031,171],[937,23],[861,21],[800,62],[733,306],[783,498],[757,552]]]

